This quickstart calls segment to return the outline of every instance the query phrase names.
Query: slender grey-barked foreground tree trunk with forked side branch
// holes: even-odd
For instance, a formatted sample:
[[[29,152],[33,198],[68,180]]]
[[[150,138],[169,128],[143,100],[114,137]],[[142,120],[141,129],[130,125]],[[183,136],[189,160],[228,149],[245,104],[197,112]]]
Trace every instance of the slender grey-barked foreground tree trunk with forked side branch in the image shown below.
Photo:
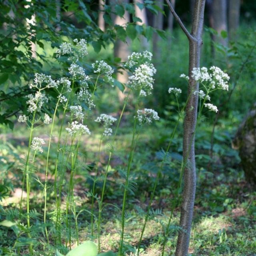
[[[186,30],[184,24],[174,12],[170,1],[166,0],[166,2],[189,41],[188,103],[186,105],[183,134],[184,189],[180,210],[180,227],[182,230],[178,234],[178,242],[175,252],[176,256],[186,256],[188,254],[194,200],[196,194],[196,162],[194,142],[197,122],[198,94],[194,94],[193,92],[199,88],[198,82],[196,82],[191,75],[193,68],[200,67],[205,0],[195,1],[191,33]]]

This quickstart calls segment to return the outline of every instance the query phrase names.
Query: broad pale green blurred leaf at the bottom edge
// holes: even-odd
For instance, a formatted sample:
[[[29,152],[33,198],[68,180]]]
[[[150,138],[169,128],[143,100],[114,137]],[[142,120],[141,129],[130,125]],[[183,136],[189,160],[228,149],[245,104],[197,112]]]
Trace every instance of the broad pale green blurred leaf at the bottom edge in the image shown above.
[[[72,249],[66,256],[97,256],[98,247],[92,241],[86,241]]]

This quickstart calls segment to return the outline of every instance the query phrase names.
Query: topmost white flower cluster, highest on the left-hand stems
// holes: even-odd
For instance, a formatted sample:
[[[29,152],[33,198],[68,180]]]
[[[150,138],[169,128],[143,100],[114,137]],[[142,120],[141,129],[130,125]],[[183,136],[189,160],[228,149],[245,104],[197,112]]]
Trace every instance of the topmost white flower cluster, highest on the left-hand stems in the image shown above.
[[[62,43],[58,50],[55,52],[56,57],[58,58],[62,55],[69,55],[70,57],[68,60],[76,62],[79,58],[83,58],[88,54],[85,39],[80,39],[80,41],[78,41],[78,39],[74,39],[73,42],[75,45],[67,42]]]

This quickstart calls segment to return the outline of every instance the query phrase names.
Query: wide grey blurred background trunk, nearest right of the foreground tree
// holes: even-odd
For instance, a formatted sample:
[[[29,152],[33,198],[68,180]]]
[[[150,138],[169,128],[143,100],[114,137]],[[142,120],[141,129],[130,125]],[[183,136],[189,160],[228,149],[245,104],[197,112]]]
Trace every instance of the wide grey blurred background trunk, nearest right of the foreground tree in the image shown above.
[[[220,36],[222,30],[228,31],[226,0],[212,1],[212,28],[218,32],[218,36],[213,36],[214,42],[228,46],[228,38],[222,38]]]

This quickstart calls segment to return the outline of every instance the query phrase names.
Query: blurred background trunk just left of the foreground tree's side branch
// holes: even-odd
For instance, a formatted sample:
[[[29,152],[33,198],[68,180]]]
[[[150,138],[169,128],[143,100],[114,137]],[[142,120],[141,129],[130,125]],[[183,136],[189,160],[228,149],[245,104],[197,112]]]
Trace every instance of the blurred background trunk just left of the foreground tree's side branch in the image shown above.
[[[156,2],[156,4],[160,7],[161,10],[164,10],[164,0],[159,0],[158,2]],[[157,29],[163,29],[163,24],[164,22],[164,15],[162,14],[162,12],[158,12],[158,15],[154,16],[154,28]],[[160,36],[157,33],[153,34],[153,56],[154,56],[154,60],[160,61],[160,52],[161,49],[160,47],[158,47],[158,42],[160,40]]]

